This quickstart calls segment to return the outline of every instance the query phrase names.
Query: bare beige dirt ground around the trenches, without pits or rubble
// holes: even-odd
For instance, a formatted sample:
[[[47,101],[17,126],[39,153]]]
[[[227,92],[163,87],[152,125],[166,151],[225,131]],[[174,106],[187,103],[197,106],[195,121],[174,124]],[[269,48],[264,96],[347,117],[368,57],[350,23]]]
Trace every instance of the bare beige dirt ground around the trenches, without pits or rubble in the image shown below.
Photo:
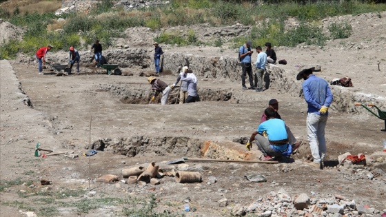
[[[385,22],[386,23],[386,22]],[[382,23],[382,25],[385,25]],[[380,25],[380,24],[377,24]],[[378,28],[377,28],[378,29]],[[383,39],[385,29],[377,39]],[[370,32],[371,31],[367,31]],[[374,37],[374,36],[373,36]],[[363,38],[356,35],[347,41],[360,44]],[[376,41],[373,41],[374,45]],[[385,47],[385,42],[381,43]],[[172,48],[168,52],[190,52],[210,57],[212,53],[203,54],[202,48]],[[205,48],[215,50],[219,48]],[[204,49],[204,50],[205,50]],[[317,63],[323,72],[318,76],[325,79],[350,76],[354,87],[349,91],[356,94],[370,95],[375,102],[385,108],[386,54],[385,48],[347,48],[343,43],[330,41],[323,49],[313,47],[276,48],[279,59],[286,59],[288,65],[281,65],[287,72],[296,74],[298,65]],[[214,55],[214,54],[213,54]],[[217,54],[218,55],[218,54]],[[233,50],[225,50],[221,55],[236,58]],[[370,56],[370,57],[369,57]],[[374,59],[373,56],[376,56]],[[378,61],[380,71],[378,71]],[[323,170],[313,169],[305,163],[309,148],[305,128],[307,105],[304,99],[294,97],[291,93],[267,89],[257,93],[241,90],[241,84],[223,79],[206,79],[199,77],[199,88],[212,92],[231,91],[234,99],[241,101],[201,101],[184,105],[160,105],[142,103],[122,103],[123,96],[114,94],[121,88],[142,93],[142,99],[149,99],[150,85],[147,78],[139,76],[141,69],[134,69],[133,76],[108,76],[103,69],[93,73],[82,72],[80,75],[53,76],[48,70],[44,75],[37,74],[37,65],[19,64],[17,61],[1,61],[1,183],[11,183],[0,192],[1,216],[23,216],[21,211],[44,213],[48,207],[59,210],[53,216],[120,216],[123,204],[108,205],[91,209],[88,213],[79,211],[76,205],[83,198],[92,198],[88,193],[88,178],[94,198],[148,198],[155,194],[159,205],[157,209],[166,209],[181,213],[183,201],[190,198],[196,211],[185,213],[186,216],[230,216],[230,209],[235,204],[249,205],[251,201],[261,198],[278,189],[285,189],[291,196],[301,193],[314,197],[327,198],[340,194],[355,200],[357,204],[368,205],[378,210],[386,209],[386,177],[380,176],[370,180],[360,175],[360,170],[381,169],[386,172],[385,163],[369,164],[367,167],[339,167],[338,156],[345,152],[363,153],[370,156],[383,156],[382,141],[386,132],[380,130],[384,122],[371,114],[341,112],[332,109],[326,127],[327,167]],[[84,65],[83,65],[84,67]],[[125,71],[127,69],[123,69]],[[131,69],[131,71],[133,71]],[[172,84],[176,76],[163,75],[163,81]],[[295,79],[294,79],[295,80]],[[292,85],[301,85],[294,81]],[[26,95],[33,107],[23,103]],[[171,99],[175,97],[172,92]],[[191,167],[201,168],[202,183],[179,184],[171,177],[161,179],[161,185],[127,185],[124,183],[95,183],[94,179],[105,174],[121,175],[121,169],[136,164],[147,165],[152,161],[169,161],[183,157],[167,153],[163,147],[141,147],[141,152],[134,157],[114,153],[109,147],[103,152],[89,158],[82,156],[89,144],[99,139],[112,141],[132,136],[154,138],[191,138],[201,141],[233,141],[249,137],[256,129],[267,101],[279,101],[279,113],[290,126],[292,132],[305,144],[299,149],[294,162],[266,164],[237,163],[187,163]],[[241,102],[241,103],[240,103]],[[352,102],[355,103],[355,102]],[[90,118],[92,118],[90,132]],[[62,155],[47,158],[34,157],[37,143],[41,148],[54,152],[70,151],[79,158],[72,159]],[[198,156],[193,150],[183,149],[186,156]],[[239,152],[247,153],[244,145],[233,147]],[[252,152],[258,155],[256,145]],[[375,154],[374,154],[375,153]],[[226,158],[226,156],[224,156]],[[176,165],[176,167],[178,167]],[[266,183],[250,183],[244,178],[248,174],[264,174]],[[208,185],[208,177],[215,176],[216,183]],[[14,180],[21,178],[22,183]],[[48,194],[42,192],[41,179],[51,180]],[[84,195],[55,198],[48,202],[44,198],[62,194],[65,189],[83,189]],[[45,189],[47,190],[47,189]],[[96,192],[96,193],[95,193]],[[64,195],[64,193],[63,193]],[[228,207],[219,207],[218,201],[227,198]],[[65,205],[66,204],[66,205]],[[44,208],[44,209],[43,209]],[[78,207],[79,208],[79,207]],[[21,211],[19,211],[21,210]],[[383,212],[382,212],[383,213]],[[46,216],[50,216],[49,214]],[[51,215],[52,216],[52,215]],[[372,216],[372,215],[370,215]],[[374,215],[376,216],[376,215]]]

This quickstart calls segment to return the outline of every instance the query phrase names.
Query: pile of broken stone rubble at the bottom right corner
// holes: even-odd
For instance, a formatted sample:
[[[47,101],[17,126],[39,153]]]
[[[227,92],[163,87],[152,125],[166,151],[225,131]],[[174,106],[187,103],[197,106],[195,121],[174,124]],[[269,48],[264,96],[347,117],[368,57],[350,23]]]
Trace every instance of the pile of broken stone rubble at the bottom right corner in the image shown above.
[[[223,201],[219,201],[223,205]],[[380,216],[386,210],[377,210],[367,205],[360,205],[355,200],[341,195],[329,195],[327,197],[315,194],[299,194],[293,198],[280,189],[278,192],[270,192],[250,205],[234,205],[233,216],[245,216],[254,214],[259,217],[270,216]]]

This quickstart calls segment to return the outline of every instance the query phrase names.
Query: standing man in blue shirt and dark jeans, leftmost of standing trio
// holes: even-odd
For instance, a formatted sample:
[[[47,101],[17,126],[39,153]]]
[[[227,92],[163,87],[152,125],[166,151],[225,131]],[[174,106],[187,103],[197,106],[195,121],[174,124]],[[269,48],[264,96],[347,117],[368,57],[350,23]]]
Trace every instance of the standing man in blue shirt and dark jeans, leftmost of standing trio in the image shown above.
[[[243,86],[243,90],[248,90],[247,86],[245,86],[245,77],[249,76],[251,89],[255,89],[253,84],[253,74],[252,74],[252,59],[251,56],[253,51],[251,50],[252,42],[247,41],[244,45],[242,45],[238,49],[238,56],[240,56],[241,67],[243,68],[243,74],[241,74],[241,85]]]

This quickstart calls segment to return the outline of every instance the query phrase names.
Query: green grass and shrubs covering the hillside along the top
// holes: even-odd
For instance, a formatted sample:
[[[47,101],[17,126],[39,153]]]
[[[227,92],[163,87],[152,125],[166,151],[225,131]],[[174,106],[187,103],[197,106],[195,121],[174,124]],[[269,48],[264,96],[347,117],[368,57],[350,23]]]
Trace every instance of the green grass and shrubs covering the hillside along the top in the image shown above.
[[[112,8],[111,0],[98,3],[90,14],[63,14],[65,19],[53,12],[26,12],[18,10],[8,12],[0,8],[0,18],[26,29],[23,41],[11,40],[0,46],[0,59],[12,59],[17,52],[32,54],[48,43],[54,50],[67,50],[70,45],[90,45],[99,39],[105,47],[113,45],[113,39],[122,37],[126,28],[145,26],[152,30],[176,25],[194,25],[209,23],[212,26],[234,25],[238,22],[252,26],[252,31],[244,37],[232,41],[239,45],[247,39],[254,44],[271,41],[274,45],[296,46],[299,43],[323,46],[327,39],[347,38],[351,34],[348,23],[336,23],[329,27],[330,35],[322,33],[318,22],[325,17],[344,14],[361,14],[386,10],[385,4],[360,3],[358,1],[318,1],[316,3],[264,3],[256,5],[250,1],[210,1],[210,0],[174,0],[169,5],[141,8],[125,11],[123,8]],[[379,15],[380,16],[380,15]],[[291,30],[285,30],[285,20],[295,17],[301,24]],[[221,46],[224,41],[199,41],[194,31],[187,37],[179,32],[162,32],[156,38],[161,43],[177,45],[215,45]],[[84,43],[81,43],[84,41]]]

